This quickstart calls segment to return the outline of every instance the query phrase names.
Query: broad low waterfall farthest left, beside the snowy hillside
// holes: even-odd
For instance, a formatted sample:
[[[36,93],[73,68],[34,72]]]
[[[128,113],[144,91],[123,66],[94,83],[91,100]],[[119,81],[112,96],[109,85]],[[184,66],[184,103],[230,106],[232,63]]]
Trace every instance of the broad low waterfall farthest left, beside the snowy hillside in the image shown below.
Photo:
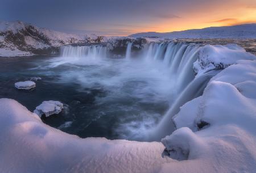
[[[107,54],[106,47],[101,45],[90,45],[90,46],[77,46],[73,47],[71,45],[61,47],[60,55],[61,57],[68,58],[86,58],[89,60],[96,60],[98,58],[105,58]]]

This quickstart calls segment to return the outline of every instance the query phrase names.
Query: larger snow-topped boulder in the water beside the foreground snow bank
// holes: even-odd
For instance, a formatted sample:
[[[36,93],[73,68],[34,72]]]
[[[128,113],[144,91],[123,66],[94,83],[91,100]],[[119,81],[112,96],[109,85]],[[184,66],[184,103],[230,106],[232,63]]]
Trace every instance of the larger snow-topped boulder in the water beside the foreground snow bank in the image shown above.
[[[34,113],[36,113],[39,117],[42,115],[46,115],[46,117],[58,114],[63,109],[63,103],[60,103],[59,101],[44,101],[42,104],[36,107],[34,110]]]

